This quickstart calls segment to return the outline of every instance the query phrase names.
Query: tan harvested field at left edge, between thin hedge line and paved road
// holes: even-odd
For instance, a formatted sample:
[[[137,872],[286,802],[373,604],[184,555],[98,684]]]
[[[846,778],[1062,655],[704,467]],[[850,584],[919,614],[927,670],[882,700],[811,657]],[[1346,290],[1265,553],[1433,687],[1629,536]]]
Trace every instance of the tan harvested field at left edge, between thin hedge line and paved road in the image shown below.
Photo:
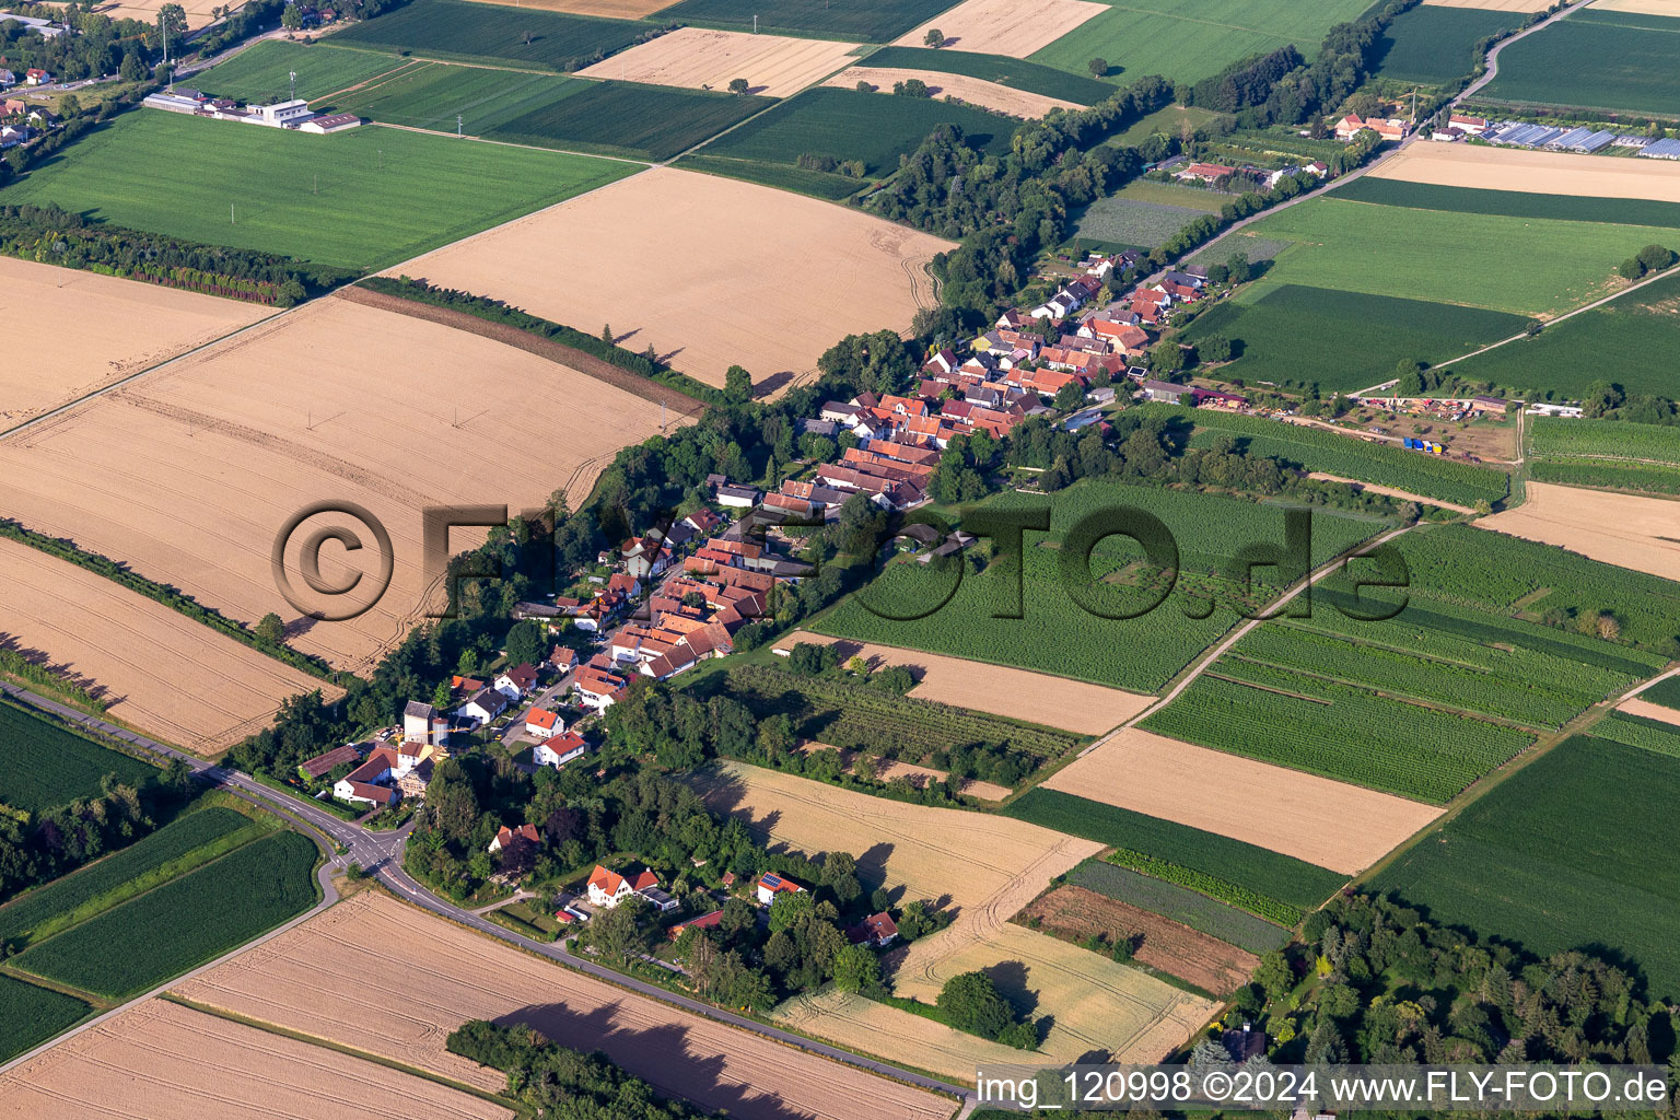
[[[113,719],[197,754],[265,727],[281,700],[339,688],[86,568],[0,537],[0,648],[74,677]]]

